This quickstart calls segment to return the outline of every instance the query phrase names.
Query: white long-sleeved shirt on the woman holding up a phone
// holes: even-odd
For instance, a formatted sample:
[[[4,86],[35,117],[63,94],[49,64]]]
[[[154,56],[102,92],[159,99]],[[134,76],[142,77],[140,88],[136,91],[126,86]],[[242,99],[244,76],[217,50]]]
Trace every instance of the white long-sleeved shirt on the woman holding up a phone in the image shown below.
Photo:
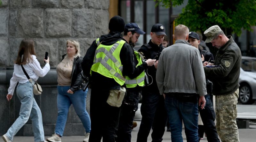
[[[24,64],[23,67],[25,71],[28,73],[28,76],[36,81],[39,77],[44,77],[48,71],[50,71],[50,64],[46,63],[44,68],[42,69],[40,63],[37,61],[36,56],[32,55],[33,61],[28,64]],[[28,78],[23,72],[21,65],[14,64],[14,70],[12,74],[12,78],[10,80],[10,87],[8,88],[8,94],[13,95],[15,86],[17,82],[26,83],[28,82]]]

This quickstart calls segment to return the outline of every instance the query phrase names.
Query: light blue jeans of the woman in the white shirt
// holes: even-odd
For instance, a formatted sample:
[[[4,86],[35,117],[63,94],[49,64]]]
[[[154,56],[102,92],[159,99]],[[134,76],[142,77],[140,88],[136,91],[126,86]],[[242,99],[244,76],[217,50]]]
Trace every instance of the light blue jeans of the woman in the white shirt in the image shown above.
[[[7,137],[12,140],[14,135],[20,130],[23,125],[25,125],[30,116],[35,142],[44,141],[42,113],[36,103],[36,100],[34,99],[33,84],[30,82],[26,82],[23,84],[19,83],[16,89],[16,93],[17,97],[21,102],[20,115],[7,131]]]

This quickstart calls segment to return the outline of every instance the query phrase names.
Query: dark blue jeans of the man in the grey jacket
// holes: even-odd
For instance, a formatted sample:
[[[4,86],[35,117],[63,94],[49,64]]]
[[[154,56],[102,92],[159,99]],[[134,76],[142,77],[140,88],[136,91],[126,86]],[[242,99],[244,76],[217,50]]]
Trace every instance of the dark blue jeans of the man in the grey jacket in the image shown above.
[[[171,128],[172,142],[183,142],[182,120],[187,142],[198,142],[198,103],[182,102],[166,94],[165,106]]]

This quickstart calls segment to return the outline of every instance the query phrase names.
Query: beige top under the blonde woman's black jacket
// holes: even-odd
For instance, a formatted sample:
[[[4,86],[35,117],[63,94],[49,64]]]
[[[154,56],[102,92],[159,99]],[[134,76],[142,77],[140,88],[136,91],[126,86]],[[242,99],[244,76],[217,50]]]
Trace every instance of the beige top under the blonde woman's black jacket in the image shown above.
[[[71,84],[71,74],[73,67],[73,60],[64,58],[60,64],[57,66],[57,75],[58,75],[58,85],[59,86],[70,86]]]

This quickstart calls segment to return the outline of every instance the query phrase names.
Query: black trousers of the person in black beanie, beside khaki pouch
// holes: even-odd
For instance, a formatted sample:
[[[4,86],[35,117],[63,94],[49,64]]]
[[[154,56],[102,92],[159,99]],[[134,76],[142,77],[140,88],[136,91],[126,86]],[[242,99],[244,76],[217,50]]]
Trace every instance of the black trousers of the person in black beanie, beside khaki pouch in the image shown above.
[[[89,142],[115,142],[120,108],[108,105],[109,89],[92,88],[90,101],[91,133]]]

